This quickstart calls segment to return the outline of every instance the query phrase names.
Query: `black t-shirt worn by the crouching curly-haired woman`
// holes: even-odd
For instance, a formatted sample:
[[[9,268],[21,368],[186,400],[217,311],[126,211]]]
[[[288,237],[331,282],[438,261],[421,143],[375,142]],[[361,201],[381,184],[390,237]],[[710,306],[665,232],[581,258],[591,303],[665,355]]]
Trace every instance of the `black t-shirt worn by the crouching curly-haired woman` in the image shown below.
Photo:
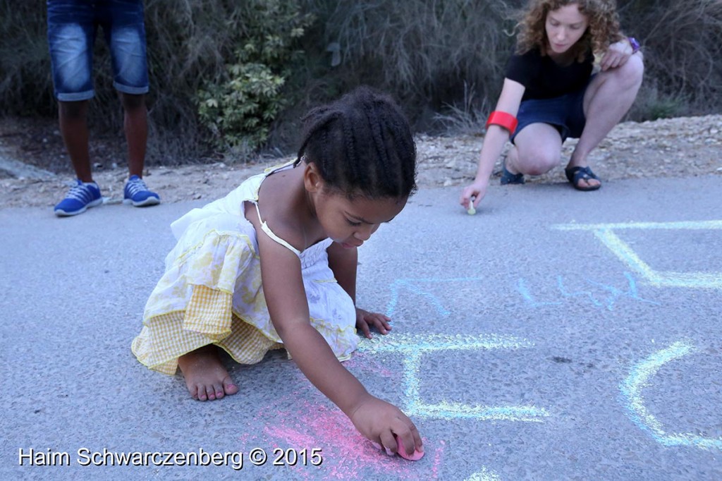
[[[594,56],[591,50],[584,61],[560,66],[538,48],[513,55],[506,64],[506,78],[519,82],[526,90],[521,100],[552,98],[584,87],[591,76]]]

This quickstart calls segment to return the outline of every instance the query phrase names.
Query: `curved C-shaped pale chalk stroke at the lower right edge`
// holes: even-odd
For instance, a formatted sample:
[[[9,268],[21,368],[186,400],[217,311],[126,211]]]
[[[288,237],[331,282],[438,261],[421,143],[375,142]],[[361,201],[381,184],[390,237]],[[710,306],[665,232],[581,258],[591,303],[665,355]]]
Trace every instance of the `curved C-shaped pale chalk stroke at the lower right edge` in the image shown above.
[[[627,415],[635,425],[649,433],[655,441],[663,446],[696,446],[704,449],[722,449],[722,438],[703,438],[692,433],[668,434],[662,424],[651,415],[644,405],[643,387],[662,365],[695,352],[688,342],[675,342],[673,345],[642,360],[632,367],[627,378],[619,384],[622,397],[626,402]]]

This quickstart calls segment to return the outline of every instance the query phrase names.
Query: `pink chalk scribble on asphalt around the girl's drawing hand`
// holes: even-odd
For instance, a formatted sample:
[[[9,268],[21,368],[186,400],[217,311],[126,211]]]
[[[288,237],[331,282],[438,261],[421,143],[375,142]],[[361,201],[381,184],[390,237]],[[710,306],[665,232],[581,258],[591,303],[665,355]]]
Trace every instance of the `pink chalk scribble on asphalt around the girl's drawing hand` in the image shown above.
[[[310,386],[309,390],[312,390]],[[274,406],[258,412],[257,418],[266,420],[263,439],[244,435],[241,443],[244,447],[265,444],[269,449],[305,449],[309,453],[312,449],[321,449],[323,463],[319,466],[297,464],[287,467],[301,479],[355,480],[367,479],[370,475],[396,480],[438,479],[443,441],[434,447],[425,440],[426,456],[417,462],[400,456],[386,456],[361,436],[343,412],[325,399],[320,401],[279,399]],[[288,408],[291,405],[295,405],[292,410]]]

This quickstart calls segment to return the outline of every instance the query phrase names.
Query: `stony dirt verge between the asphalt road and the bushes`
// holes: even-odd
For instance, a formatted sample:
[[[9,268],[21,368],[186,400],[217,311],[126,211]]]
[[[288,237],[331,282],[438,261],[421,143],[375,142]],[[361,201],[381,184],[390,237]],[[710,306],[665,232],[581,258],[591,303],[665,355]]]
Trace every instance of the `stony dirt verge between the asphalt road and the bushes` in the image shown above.
[[[419,188],[463,186],[471,182],[484,139],[471,136],[417,136]],[[560,166],[527,182],[566,182],[563,166],[575,140],[565,142]],[[121,202],[128,176],[119,139],[91,139],[94,178],[106,202]],[[254,164],[230,162],[150,165],[144,173],[162,202],[208,200],[224,196],[248,175],[291,157]],[[4,162],[3,162],[4,161]],[[722,115],[620,123],[590,156],[602,182],[622,178],[720,175]],[[497,162],[495,175],[499,174]],[[51,208],[65,195],[74,175],[56,123],[0,119],[0,208]]]

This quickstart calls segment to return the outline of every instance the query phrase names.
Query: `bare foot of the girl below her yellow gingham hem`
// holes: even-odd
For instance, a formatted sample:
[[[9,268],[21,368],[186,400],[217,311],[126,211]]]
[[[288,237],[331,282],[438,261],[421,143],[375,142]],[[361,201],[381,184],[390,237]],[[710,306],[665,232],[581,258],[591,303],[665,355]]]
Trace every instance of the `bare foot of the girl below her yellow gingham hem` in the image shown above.
[[[238,392],[238,386],[228,376],[214,345],[182,355],[178,358],[178,366],[186,378],[186,386],[193,399],[212,401]]]

